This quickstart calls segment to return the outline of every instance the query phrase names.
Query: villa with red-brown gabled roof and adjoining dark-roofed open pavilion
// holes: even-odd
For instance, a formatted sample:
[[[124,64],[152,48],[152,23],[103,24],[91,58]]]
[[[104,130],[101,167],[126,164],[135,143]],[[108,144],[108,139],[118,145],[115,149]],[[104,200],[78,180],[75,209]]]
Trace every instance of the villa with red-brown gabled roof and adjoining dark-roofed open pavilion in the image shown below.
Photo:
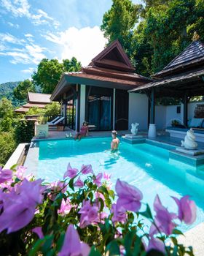
[[[188,119],[197,121],[192,123],[193,127],[203,127],[203,103],[189,102],[191,97],[204,95],[203,64],[204,45],[196,40],[152,75],[154,80],[151,80],[135,73],[116,40],[88,67],[80,72],[64,73],[50,99],[61,102],[66,125],[76,131],[84,120],[95,131],[127,130],[130,124],[138,122],[141,130],[149,129],[151,124],[149,137],[156,136],[156,127],[168,127],[171,136],[184,138]],[[155,100],[161,97],[182,99],[182,103],[155,105]],[[174,119],[183,126],[172,128]],[[198,139],[204,141],[202,132],[197,129],[197,133]]]

